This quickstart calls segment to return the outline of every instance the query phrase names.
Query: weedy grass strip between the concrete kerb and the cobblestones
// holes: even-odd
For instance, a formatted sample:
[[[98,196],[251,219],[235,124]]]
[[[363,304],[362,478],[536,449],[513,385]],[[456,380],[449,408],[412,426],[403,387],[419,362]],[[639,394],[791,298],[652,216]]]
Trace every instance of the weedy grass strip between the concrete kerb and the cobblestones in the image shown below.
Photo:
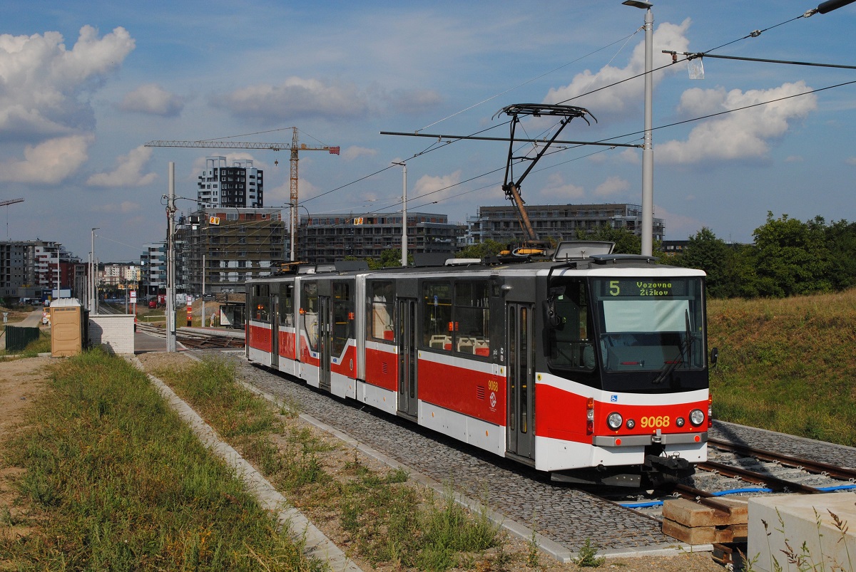
[[[214,360],[155,372],[302,510],[329,518],[350,535],[348,550],[370,563],[443,570],[500,543],[484,514],[407,484],[401,469],[368,469],[357,457],[346,475],[323,466],[325,445],[296,422],[294,402],[275,407],[235,383],[228,363]],[[275,443],[276,437],[276,443]]]

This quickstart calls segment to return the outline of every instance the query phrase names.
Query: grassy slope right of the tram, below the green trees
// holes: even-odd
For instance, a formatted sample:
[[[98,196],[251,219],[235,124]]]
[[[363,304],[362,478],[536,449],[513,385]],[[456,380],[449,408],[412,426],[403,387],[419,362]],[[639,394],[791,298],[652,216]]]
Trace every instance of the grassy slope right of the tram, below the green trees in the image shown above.
[[[856,446],[856,290],[711,300],[714,417]]]

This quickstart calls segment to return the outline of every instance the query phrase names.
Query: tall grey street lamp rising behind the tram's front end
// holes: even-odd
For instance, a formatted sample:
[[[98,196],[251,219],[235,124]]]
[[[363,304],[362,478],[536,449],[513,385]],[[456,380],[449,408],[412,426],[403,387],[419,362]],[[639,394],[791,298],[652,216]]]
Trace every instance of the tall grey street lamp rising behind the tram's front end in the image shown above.
[[[622,4],[645,10],[645,144],[642,147],[642,254],[651,256],[654,234],[654,148],[651,144],[653,123],[651,69],[654,62],[654,16],[652,3],[645,0],[624,0]]]

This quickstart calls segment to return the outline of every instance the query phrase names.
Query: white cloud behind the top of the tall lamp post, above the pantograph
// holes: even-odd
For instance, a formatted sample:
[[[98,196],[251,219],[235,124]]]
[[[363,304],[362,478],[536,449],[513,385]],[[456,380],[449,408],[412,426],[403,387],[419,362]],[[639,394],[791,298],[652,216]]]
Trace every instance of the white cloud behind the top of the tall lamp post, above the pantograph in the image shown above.
[[[659,68],[669,64],[672,61],[672,56],[663,54],[661,50],[687,51],[689,40],[686,37],[687,30],[690,27],[690,20],[681,22],[680,26],[663,22],[654,31],[653,44],[656,47],[654,50],[653,67]],[[665,73],[674,74],[678,71],[678,66],[665,68],[663,72],[653,74],[653,82],[657,83],[663,79]],[[606,65],[597,72],[592,74],[587,70],[581,74],[574,76],[568,86],[556,87],[551,89],[547,96],[544,97],[544,103],[564,102],[568,99],[580,96],[582,93],[588,93],[596,90],[599,87],[609,86],[627,80],[627,78],[645,73],[645,42],[642,41],[633,48],[633,55],[630,56],[630,61],[624,68],[614,68]],[[616,86],[597,91],[589,96],[580,97],[568,102],[571,105],[579,105],[581,107],[591,106],[591,110],[598,120],[602,119],[604,114],[617,113],[627,114],[627,112],[635,113],[636,109],[643,103],[643,85],[644,76],[640,76],[631,81],[618,83]],[[628,105],[628,102],[632,104]]]

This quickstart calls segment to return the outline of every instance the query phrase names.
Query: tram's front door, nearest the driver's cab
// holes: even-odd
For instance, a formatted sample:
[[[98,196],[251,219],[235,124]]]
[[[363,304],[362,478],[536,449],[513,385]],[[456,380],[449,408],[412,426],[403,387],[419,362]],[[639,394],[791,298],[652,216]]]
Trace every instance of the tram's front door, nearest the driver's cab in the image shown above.
[[[535,360],[532,304],[508,304],[508,452],[535,458]]]

